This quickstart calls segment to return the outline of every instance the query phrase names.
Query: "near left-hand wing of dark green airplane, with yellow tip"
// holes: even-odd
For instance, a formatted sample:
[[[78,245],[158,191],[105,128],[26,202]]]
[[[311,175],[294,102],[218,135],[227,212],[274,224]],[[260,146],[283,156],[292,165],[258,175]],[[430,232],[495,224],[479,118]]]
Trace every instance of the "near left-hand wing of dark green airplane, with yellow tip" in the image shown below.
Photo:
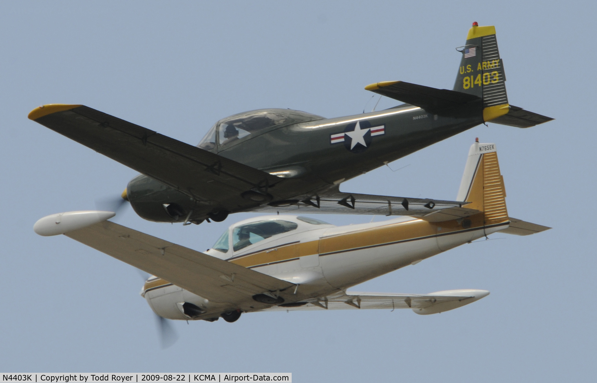
[[[242,193],[284,181],[87,106],[50,104],[29,118],[196,200],[247,207]]]

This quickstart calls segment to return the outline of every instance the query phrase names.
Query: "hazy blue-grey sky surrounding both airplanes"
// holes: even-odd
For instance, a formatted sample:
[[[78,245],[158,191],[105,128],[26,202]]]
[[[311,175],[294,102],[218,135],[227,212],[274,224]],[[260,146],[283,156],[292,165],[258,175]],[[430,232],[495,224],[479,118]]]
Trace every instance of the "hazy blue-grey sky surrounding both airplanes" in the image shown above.
[[[373,3],[373,4],[372,4]],[[292,372],[295,382],[591,381],[595,332],[594,2],[0,3],[0,371]],[[27,119],[85,104],[196,144],[217,120],[281,107],[335,117],[371,110],[363,88],[403,80],[451,89],[472,21],[495,25],[510,103],[556,118],[489,123],[343,191],[453,199],[475,137],[496,143],[512,217],[553,227],[494,234],[353,288],[488,289],[432,316],[410,310],[246,314],[176,322],[159,348],[130,265],[39,218],[94,209],[136,172]],[[378,109],[398,104],[383,98]],[[204,250],[230,224],[116,222]],[[334,224],[371,217],[318,216]],[[375,217],[382,220],[385,217]]]

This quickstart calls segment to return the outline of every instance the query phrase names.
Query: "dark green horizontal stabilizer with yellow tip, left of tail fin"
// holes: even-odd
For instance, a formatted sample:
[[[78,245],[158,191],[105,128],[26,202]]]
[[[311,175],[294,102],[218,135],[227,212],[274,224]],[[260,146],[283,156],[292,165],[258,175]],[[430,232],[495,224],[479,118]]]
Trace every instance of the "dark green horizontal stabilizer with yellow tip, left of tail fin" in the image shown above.
[[[367,85],[368,91],[418,106],[436,115],[467,117],[481,113],[481,98],[473,94],[425,87],[404,81],[384,81]]]

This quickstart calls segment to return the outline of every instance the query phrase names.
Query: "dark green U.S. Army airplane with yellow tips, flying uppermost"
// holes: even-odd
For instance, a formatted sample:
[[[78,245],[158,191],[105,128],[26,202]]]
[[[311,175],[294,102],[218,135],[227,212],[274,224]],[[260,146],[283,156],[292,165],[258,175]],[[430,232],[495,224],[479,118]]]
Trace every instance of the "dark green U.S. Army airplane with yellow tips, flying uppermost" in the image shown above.
[[[467,217],[464,201],[344,193],[343,181],[491,121],[528,128],[552,118],[509,104],[493,26],[473,23],[453,90],[402,81],[369,91],[404,102],[326,119],[260,109],[221,119],[198,146],[82,105],[50,104],[29,118],[140,175],[122,197],[146,220],[199,224],[235,212]]]

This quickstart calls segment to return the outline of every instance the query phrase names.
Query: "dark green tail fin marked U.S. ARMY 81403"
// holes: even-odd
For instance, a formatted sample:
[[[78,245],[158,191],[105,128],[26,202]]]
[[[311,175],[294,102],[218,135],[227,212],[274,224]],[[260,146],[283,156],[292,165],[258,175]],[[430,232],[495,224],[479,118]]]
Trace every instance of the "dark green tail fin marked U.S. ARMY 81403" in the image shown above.
[[[496,27],[479,27],[475,22],[462,53],[454,91],[476,95],[483,100],[483,119],[491,121],[509,112],[504,62],[497,49]]]

